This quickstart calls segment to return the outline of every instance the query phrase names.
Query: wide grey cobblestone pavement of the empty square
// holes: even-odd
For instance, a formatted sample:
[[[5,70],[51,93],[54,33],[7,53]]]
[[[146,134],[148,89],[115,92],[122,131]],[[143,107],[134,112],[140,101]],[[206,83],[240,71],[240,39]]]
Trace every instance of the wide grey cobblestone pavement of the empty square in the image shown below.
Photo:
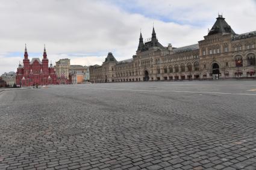
[[[256,81],[0,94],[0,169],[256,169]]]

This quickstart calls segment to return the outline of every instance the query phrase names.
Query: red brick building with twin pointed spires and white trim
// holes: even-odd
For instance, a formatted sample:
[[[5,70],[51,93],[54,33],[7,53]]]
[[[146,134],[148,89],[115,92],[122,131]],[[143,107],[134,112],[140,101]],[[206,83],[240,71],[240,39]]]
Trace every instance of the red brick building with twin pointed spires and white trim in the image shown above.
[[[55,74],[52,63],[48,67],[49,61],[46,50],[43,51],[43,59],[32,58],[28,59],[27,46],[25,46],[25,53],[23,65],[19,64],[17,68],[16,84],[22,86],[31,86],[34,83],[39,85],[57,84],[57,75]]]

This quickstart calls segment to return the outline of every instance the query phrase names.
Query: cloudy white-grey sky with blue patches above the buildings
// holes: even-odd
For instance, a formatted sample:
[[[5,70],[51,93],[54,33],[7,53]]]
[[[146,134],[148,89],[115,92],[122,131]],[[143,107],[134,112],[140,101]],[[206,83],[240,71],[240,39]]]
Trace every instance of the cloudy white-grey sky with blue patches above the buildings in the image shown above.
[[[140,29],[151,37],[154,22],[164,46],[195,44],[223,13],[240,34],[256,30],[256,1],[82,1],[0,0],[0,74],[16,71],[25,43],[29,58],[72,64],[102,64],[109,51],[117,60],[136,53]]]

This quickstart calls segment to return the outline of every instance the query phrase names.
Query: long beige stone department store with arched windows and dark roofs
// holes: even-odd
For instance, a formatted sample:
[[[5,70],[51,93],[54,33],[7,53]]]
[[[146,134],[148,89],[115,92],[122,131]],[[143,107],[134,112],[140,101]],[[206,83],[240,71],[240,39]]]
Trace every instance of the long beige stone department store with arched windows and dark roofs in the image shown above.
[[[162,46],[153,28],[151,40],[140,33],[136,55],[116,61],[108,53],[102,65],[90,66],[91,82],[190,79],[255,79],[256,31],[236,34],[222,15],[204,40],[190,46]]]

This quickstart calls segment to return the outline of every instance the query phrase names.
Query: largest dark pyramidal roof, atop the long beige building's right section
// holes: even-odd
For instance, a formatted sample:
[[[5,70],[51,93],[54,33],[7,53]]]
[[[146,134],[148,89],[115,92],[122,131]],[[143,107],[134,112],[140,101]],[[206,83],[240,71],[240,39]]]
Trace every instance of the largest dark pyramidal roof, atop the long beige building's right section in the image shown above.
[[[233,29],[231,29],[231,26],[226,23],[225,18],[223,18],[222,15],[219,14],[219,16],[216,18],[216,22],[214,23],[213,27],[211,30],[208,32],[208,35],[213,35],[213,34],[236,34]]]

